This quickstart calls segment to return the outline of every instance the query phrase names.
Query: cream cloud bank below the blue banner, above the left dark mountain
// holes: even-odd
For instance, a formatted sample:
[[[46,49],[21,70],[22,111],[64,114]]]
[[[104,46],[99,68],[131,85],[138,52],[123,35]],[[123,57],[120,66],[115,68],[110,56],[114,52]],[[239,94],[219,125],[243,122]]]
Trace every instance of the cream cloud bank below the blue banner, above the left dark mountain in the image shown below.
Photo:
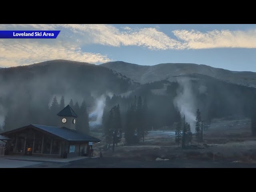
[[[89,63],[110,61],[106,55],[83,52],[80,47],[75,45],[0,40],[0,66],[2,67],[33,64],[54,59]]]

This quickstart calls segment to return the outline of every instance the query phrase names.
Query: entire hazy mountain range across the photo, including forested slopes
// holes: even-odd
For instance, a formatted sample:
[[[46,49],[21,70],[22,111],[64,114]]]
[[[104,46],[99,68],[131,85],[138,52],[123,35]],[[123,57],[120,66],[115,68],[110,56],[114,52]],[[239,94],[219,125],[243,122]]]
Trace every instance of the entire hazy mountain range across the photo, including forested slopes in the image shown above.
[[[252,106],[256,106],[256,88],[221,80],[229,77],[228,80],[241,81],[245,76],[254,77],[255,73],[231,72],[196,64],[139,66],[111,62],[94,65],[68,60],[3,68],[0,70],[0,124],[4,121],[10,125],[12,122],[10,128],[31,123],[51,125],[48,124],[50,119],[60,110],[56,102],[60,102],[61,96],[64,96],[65,105],[70,99],[76,106],[76,102],[80,105],[85,100],[87,112],[97,123],[102,120],[103,110],[106,119],[109,110],[118,104],[122,123],[125,123],[126,112],[139,98],[143,103],[147,101],[150,128],[172,126],[178,110],[191,122],[195,120],[197,108],[205,120],[250,117]],[[184,81],[173,82],[177,79]],[[140,84],[135,80],[150,83]],[[106,103],[109,108],[104,107]]]

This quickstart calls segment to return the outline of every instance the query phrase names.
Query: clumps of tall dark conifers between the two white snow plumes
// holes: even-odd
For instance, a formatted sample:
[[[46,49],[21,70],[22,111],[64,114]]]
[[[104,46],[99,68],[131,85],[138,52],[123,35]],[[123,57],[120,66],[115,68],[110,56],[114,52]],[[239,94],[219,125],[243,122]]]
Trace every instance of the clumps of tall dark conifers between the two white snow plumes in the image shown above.
[[[142,97],[139,96],[137,101],[134,96],[133,102],[123,111],[124,118],[121,116],[119,104],[110,108],[109,111],[107,110],[110,101],[111,99],[106,99],[102,117],[106,143],[117,145],[121,141],[123,132],[127,144],[136,144],[141,140],[144,142],[147,131],[150,129],[147,99],[142,100]]]

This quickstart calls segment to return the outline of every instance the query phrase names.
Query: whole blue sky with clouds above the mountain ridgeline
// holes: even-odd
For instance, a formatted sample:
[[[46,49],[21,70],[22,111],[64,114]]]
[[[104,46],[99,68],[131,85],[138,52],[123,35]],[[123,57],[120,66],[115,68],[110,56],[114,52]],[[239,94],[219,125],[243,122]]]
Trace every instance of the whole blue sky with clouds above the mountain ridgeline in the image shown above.
[[[0,24],[0,30],[60,30],[56,39],[0,39],[0,67],[65,59],[256,72],[256,24]]]

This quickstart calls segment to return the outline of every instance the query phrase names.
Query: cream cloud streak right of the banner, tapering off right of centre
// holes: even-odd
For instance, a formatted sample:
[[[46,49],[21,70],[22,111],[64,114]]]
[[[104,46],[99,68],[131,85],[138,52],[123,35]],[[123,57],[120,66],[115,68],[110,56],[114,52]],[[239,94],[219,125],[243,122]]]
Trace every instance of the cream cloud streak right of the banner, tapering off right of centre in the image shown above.
[[[156,28],[131,29],[124,27],[123,31],[111,25],[103,24],[60,24],[77,36],[82,35],[85,43],[106,46],[142,46],[150,50],[182,49],[183,44],[168,37]]]

